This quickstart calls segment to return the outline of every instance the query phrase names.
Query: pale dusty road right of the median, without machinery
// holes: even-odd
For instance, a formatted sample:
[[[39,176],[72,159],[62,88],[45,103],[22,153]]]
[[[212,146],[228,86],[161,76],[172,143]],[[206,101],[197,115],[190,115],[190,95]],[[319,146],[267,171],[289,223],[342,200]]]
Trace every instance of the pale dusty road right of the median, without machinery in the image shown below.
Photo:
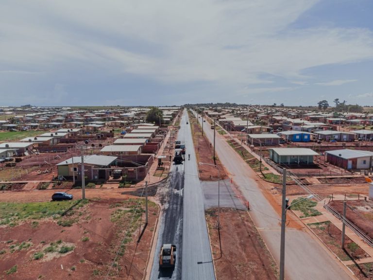
[[[202,118],[199,119],[202,123]],[[207,121],[205,124],[208,124]],[[213,142],[214,130],[203,125],[207,138]],[[256,175],[243,163],[241,157],[216,134],[216,154],[233,178],[242,195],[250,202],[251,215],[277,263],[280,259],[281,217],[272,208],[259,186]],[[349,280],[352,279],[343,266],[302,230],[286,230],[285,276],[288,280]]]

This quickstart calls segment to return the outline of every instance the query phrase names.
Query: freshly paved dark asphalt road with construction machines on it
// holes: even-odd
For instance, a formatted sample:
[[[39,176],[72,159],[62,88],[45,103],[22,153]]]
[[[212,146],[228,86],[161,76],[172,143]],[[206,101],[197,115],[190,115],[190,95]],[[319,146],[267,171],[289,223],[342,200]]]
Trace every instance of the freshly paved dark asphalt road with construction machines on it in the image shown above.
[[[178,140],[186,144],[186,160],[173,165],[164,187],[158,189],[164,213],[160,219],[157,248],[150,279],[215,280],[210,241],[204,216],[203,192],[198,177],[190,125],[184,111]],[[190,160],[187,155],[190,154]],[[164,243],[177,246],[174,270],[159,270]],[[180,260],[181,258],[181,260]]]

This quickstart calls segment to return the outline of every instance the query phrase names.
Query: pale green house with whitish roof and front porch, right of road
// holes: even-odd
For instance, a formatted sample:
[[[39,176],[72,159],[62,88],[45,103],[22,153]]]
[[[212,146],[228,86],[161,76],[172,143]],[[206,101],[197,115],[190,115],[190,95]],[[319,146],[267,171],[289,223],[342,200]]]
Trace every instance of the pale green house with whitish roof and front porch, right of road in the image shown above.
[[[313,164],[315,156],[319,156],[315,151],[308,148],[271,148],[270,158],[277,164]]]

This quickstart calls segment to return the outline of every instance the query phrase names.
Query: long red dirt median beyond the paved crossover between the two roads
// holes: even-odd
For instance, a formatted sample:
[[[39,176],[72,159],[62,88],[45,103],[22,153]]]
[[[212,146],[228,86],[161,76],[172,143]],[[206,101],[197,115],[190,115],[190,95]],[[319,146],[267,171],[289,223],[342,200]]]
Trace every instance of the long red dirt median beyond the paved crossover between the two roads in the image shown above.
[[[196,118],[194,118],[192,115],[189,115],[189,118],[190,125],[192,127],[193,143],[197,155],[197,162],[214,164],[214,148],[211,146],[210,141],[207,140],[205,136],[202,136],[202,128],[197,123]],[[219,167],[220,170],[220,179],[228,178],[228,175],[226,174],[226,171],[221,165],[218,157],[216,159],[216,165]],[[213,180],[213,178],[215,180],[218,177],[218,170],[214,166],[198,164],[198,169],[200,172],[200,179],[203,181],[210,181]]]

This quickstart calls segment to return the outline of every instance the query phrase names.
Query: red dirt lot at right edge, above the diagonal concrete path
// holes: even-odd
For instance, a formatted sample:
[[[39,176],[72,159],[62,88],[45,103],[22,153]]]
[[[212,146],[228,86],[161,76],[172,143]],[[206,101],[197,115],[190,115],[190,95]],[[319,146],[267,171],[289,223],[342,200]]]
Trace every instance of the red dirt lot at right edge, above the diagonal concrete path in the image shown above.
[[[373,203],[364,200],[349,200],[346,204],[347,219],[373,238]],[[331,201],[329,205],[339,213],[343,213],[343,201]]]

